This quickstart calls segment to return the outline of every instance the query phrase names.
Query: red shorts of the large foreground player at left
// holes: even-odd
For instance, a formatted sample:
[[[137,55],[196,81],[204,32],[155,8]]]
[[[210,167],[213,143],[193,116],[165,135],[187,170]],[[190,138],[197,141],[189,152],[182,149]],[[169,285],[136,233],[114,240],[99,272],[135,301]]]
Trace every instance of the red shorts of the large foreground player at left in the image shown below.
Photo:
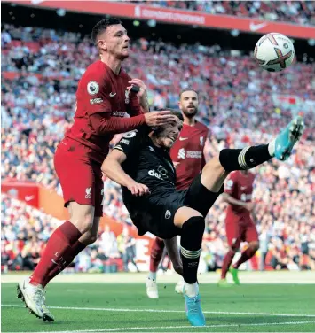
[[[65,207],[71,201],[95,207],[95,217],[103,216],[104,185],[100,163],[89,157],[91,149],[64,139],[55,152],[54,165],[61,184]]]

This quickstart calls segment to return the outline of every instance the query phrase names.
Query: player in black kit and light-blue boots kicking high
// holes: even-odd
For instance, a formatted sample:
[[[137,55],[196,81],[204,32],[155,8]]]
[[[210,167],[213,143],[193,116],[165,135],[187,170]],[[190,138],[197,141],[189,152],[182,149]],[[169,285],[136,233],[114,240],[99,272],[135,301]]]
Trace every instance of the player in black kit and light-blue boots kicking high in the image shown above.
[[[188,189],[176,190],[176,170],[169,149],[183,127],[183,116],[177,111],[173,114],[177,120],[166,126],[145,127],[125,135],[106,157],[102,171],[122,185],[123,202],[139,235],[149,231],[162,239],[181,236],[186,315],[193,326],[204,326],[197,271],[205,217],[224,191],[230,172],[256,167],[273,157],[289,157],[303,134],[303,118],[292,120],[269,144],[220,151]]]

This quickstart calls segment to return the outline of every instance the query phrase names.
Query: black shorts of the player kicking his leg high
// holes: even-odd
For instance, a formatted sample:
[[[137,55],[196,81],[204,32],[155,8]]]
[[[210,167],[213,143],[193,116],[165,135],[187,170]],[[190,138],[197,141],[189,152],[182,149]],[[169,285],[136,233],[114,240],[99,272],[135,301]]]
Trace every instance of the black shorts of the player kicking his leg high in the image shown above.
[[[162,239],[180,235],[180,228],[174,225],[174,216],[180,207],[187,206],[195,209],[206,217],[217,197],[224,192],[224,186],[217,193],[209,191],[201,184],[201,174],[197,175],[186,190],[177,190],[165,197],[150,197],[143,203],[137,216],[131,216],[138,228],[138,234],[151,232]]]

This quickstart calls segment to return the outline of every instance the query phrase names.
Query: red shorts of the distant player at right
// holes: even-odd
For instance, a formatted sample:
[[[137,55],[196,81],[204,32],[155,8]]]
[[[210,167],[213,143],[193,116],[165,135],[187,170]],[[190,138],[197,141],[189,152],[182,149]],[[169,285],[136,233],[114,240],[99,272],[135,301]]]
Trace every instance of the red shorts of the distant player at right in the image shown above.
[[[258,241],[256,225],[249,218],[244,221],[226,221],[225,231],[229,246],[239,248],[241,242]]]

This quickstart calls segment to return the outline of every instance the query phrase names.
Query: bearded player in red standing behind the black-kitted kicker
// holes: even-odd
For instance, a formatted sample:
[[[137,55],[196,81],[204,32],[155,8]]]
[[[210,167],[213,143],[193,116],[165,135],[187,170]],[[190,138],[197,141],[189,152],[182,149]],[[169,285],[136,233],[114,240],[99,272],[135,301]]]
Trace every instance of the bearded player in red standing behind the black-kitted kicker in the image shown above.
[[[170,151],[170,157],[174,167],[176,167],[177,190],[187,189],[193,182],[194,177],[201,172],[206,164],[203,149],[208,137],[208,128],[195,120],[195,115],[198,112],[198,103],[198,94],[193,89],[185,89],[180,93],[178,105],[183,113],[184,124],[180,136]],[[146,281],[146,294],[149,298],[159,298],[156,272],[164,247],[164,241],[156,237],[151,248],[150,272]],[[180,272],[181,263],[176,265],[173,260],[172,262],[174,269]],[[176,291],[183,292],[183,285],[184,280],[177,283]]]

